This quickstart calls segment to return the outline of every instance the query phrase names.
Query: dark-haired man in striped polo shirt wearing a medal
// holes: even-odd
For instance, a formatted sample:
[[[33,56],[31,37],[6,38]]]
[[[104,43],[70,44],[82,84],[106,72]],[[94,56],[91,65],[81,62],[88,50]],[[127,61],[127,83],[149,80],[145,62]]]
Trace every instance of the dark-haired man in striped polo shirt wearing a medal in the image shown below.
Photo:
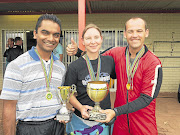
[[[64,134],[63,124],[54,120],[61,108],[57,87],[64,83],[66,72],[52,54],[60,32],[55,15],[40,16],[34,30],[36,47],[8,64],[0,96],[4,135]]]

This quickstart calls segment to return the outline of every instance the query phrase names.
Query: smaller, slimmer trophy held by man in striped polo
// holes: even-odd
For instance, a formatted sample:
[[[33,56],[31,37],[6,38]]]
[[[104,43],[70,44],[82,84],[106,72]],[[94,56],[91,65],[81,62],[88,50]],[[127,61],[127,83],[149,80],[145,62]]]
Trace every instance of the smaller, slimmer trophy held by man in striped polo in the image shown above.
[[[73,84],[72,86],[61,86],[58,87],[58,89],[58,96],[63,105],[59,110],[59,113],[56,115],[56,119],[70,121],[72,112],[67,109],[66,103],[69,102],[69,98],[76,92],[76,85]]]

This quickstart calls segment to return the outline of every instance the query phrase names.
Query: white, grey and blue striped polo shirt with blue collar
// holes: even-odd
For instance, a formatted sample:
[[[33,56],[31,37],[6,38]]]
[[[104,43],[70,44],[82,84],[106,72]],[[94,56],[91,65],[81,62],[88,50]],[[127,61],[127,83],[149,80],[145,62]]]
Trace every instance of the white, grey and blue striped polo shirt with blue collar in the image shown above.
[[[44,72],[34,49],[35,47],[32,47],[31,50],[20,55],[6,68],[0,99],[18,100],[16,120],[43,121],[51,119],[61,108],[57,87],[64,83],[65,66],[57,57],[51,55],[53,56],[53,71],[50,91],[53,98],[47,100]]]

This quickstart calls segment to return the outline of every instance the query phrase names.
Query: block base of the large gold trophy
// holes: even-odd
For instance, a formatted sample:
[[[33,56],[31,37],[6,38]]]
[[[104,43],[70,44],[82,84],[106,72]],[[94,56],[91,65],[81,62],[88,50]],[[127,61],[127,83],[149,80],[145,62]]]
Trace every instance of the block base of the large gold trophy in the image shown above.
[[[106,114],[94,111],[89,111],[89,120],[105,120]]]

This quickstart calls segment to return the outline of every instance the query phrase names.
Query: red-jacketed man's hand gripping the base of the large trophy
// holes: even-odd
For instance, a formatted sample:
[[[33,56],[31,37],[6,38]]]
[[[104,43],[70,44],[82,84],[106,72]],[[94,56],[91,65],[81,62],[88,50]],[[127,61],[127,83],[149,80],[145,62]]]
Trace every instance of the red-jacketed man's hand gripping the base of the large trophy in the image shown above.
[[[115,111],[112,109],[100,110],[100,112],[106,114],[106,119],[105,120],[96,120],[97,122],[109,123],[116,116]]]

